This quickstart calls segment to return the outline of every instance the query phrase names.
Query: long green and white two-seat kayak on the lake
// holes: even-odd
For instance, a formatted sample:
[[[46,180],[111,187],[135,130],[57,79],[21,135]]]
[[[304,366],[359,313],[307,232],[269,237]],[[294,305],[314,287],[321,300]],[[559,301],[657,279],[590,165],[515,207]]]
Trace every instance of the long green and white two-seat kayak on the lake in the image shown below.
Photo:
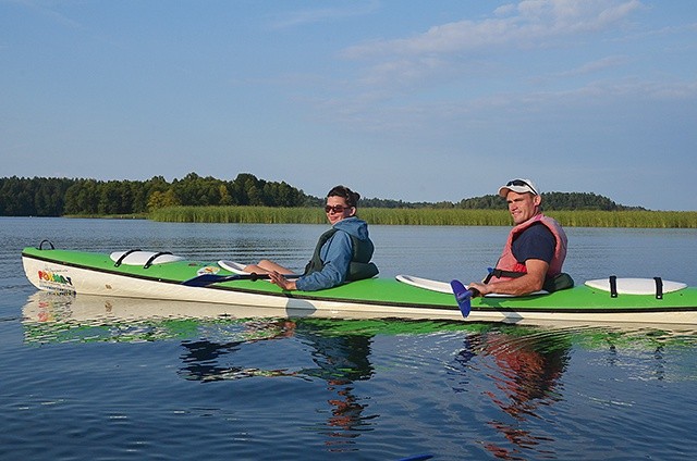
[[[225,261],[192,261],[168,252],[96,253],[42,244],[25,248],[22,261],[29,282],[41,290],[231,304],[268,309],[274,315],[697,325],[697,287],[660,278],[606,278],[553,294],[475,298],[464,319],[449,283],[411,275],[320,291],[284,291],[256,274],[239,274]]]

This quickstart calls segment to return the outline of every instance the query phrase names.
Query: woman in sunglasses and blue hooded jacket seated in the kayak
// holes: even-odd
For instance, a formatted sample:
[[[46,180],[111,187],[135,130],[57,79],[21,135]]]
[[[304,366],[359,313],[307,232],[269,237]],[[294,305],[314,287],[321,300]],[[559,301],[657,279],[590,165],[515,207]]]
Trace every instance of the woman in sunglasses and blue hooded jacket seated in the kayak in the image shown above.
[[[368,224],[356,216],[360,195],[345,186],[333,187],[327,194],[325,212],[332,228],[319,237],[313,259],[305,273],[290,279],[293,272],[273,261],[261,260],[245,266],[249,273],[268,273],[272,283],[285,290],[315,291],[344,282],[370,278],[378,267],[370,262],[375,249],[368,237]]]

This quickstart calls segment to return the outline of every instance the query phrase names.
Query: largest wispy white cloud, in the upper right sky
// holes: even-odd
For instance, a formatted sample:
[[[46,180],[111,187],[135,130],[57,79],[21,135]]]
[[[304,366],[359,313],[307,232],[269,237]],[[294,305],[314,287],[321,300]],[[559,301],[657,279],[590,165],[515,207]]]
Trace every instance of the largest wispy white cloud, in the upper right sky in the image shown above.
[[[492,62],[501,53],[510,57],[512,51],[546,49],[550,43],[561,48],[561,39],[615,30],[641,7],[638,0],[523,0],[500,7],[488,17],[436,25],[411,37],[367,41],[344,49],[342,55],[369,63],[354,78],[364,87],[400,90],[423,83],[432,87],[481,75],[482,70],[500,65]],[[607,58],[575,72],[620,63]]]

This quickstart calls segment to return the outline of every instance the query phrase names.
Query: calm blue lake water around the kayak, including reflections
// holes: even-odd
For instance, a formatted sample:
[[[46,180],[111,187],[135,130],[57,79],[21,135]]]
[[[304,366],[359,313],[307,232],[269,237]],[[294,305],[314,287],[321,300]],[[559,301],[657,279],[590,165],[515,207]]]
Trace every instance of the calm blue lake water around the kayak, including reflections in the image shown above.
[[[325,228],[0,217],[0,458],[697,458],[695,331],[216,317],[205,304],[39,294],[20,257],[48,238],[299,270]],[[382,276],[468,282],[508,228],[370,232]],[[567,233],[577,283],[697,285],[694,229]]]

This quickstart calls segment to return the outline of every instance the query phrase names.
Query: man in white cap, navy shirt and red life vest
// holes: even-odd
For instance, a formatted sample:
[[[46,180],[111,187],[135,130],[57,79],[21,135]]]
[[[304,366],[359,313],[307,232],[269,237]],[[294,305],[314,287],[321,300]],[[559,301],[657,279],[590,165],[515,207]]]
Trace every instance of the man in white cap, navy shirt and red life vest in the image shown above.
[[[484,282],[469,284],[469,288],[482,296],[523,296],[559,288],[554,281],[562,275],[566,234],[555,220],[542,214],[539,189],[530,179],[513,179],[499,188],[499,195],[509,203],[515,225],[496,269]],[[571,277],[563,275],[564,285],[573,286]]]

